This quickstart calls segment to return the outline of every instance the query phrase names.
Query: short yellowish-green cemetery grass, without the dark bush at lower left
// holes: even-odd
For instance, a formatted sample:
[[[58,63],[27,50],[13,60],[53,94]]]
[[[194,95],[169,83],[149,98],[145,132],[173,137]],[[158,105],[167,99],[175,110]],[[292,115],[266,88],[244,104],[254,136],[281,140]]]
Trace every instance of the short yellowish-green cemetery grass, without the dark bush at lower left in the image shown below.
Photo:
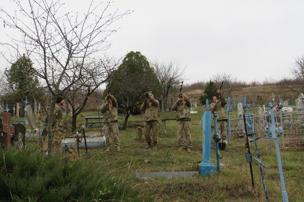
[[[160,121],[159,143],[156,151],[144,149],[146,145],[143,140],[144,136],[139,141],[137,127],[128,127],[127,130],[120,131],[122,147],[120,152],[112,148],[110,153],[105,153],[104,147],[92,147],[88,149],[87,153],[82,148],[81,157],[75,158],[71,154],[67,163],[82,162],[83,166],[78,169],[89,172],[93,176],[93,179],[82,179],[78,186],[91,183],[95,188],[91,190],[93,196],[88,196],[86,200],[70,201],[266,201],[259,166],[255,161],[252,163],[255,187],[252,186],[249,163],[246,163],[245,157],[247,153],[245,139],[229,142],[228,151],[222,151],[220,171],[214,175],[198,175],[191,178],[135,179],[135,172],[199,171],[198,163],[202,161],[202,126],[199,125],[199,122],[202,118],[203,108],[195,110],[198,113],[191,116],[194,144],[192,153],[177,150],[176,121],[166,122],[167,134],[164,133]],[[160,120],[163,118],[175,118],[175,112],[163,112]],[[132,116],[129,120],[130,123],[140,121],[142,116]],[[79,117],[79,127],[81,127],[82,121],[82,117]],[[119,124],[122,121],[120,119]],[[96,132],[97,129],[87,130],[87,133],[94,131]],[[213,140],[211,141],[213,144]],[[277,154],[275,142],[272,141],[272,153],[268,141],[258,141],[257,146],[261,162],[267,165],[267,169],[263,168],[263,173],[269,201],[282,201]],[[303,147],[299,146],[301,143],[298,141],[288,144],[288,149],[280,148],[289,201],[304,201],[302,194],[304,191],[304,153]],[[32,145],[35,146],[36,143],[27,142],[27,147]],[[253,143],[250,144],[250,149],[253,157],[256,157]],[[213,148],[211,149],[211,163],[216,166]],[[82,182],[83,180],[85,183]],[[102,188],[97,184],[102,184]],[[117,187],[117,189],[113,190],[111,187]],[[107,196],[110,194],[109,192],[112,194]],[[135,195],[130,192],[134,192]]]

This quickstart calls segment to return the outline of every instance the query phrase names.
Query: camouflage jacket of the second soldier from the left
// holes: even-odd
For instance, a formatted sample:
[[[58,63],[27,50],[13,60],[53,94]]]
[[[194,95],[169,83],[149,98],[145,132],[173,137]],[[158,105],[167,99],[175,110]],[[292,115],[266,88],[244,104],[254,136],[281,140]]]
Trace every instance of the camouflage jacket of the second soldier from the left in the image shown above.
[[[106,99],[107,97],[105,97]],[[101,106],[100,111],[103,114],[103,123],[110,123],[113,121],[117,121],[117,100],[111,95],[108,97],[109,105],[105,105],[105,103]]]

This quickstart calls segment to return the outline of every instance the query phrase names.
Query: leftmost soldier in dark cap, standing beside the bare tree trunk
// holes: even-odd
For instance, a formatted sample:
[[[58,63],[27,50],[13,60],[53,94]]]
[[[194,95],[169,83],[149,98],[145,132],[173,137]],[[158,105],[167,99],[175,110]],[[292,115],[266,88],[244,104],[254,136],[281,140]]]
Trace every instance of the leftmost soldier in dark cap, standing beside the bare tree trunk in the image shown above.
[[[63,113],[62,108],[64,104],[64,99],[61,95],[57,96],[55,109],[54,109],[54,118],[53,118],[53,125],[52,125],[52,148],[51,152],[53,153],[62,153],[62,145],[61,139],[64,136],[64,128],[63,128]]]

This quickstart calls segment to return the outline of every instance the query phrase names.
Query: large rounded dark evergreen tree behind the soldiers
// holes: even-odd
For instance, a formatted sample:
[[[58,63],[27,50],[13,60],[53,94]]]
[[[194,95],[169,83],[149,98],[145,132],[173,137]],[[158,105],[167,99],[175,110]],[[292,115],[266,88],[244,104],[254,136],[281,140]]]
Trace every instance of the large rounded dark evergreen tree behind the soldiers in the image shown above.
[[[119,68],[112,72],[104,92],[108,92],[109,88],[110,93],[117,98],[119,109],[126,114],[123,129],[127,126],[129,116],[136,111],[139,113],[145,88],[153,90],[155,98],[160,94],[159,81],[146,57],[133,51],[128,53]]]

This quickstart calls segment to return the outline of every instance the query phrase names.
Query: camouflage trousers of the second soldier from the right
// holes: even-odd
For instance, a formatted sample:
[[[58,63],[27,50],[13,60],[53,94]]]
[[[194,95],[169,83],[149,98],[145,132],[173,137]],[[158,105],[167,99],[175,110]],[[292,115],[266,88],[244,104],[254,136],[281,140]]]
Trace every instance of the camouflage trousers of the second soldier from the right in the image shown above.
[[[180,147],[186,146],[192,148],[191,139],[191,123],[190,121],[177,121],[177,142]],[[183,142],[183,134],[185,134],[186,142]]]

